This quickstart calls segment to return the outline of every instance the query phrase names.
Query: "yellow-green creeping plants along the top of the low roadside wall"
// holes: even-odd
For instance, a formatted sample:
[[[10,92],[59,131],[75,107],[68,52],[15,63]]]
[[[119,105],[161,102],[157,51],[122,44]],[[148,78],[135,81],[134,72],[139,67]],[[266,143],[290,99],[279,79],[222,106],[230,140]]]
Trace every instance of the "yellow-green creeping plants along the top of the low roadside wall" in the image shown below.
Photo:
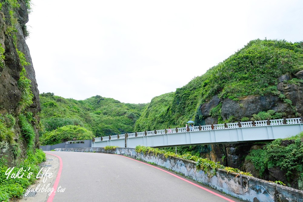
[[[195,162],[197,162],[196,163],[197,169],[205,171],[205,173],[207,173],[209,177],[214,176],[216,174],[216,169],[218,169],[218,168],[226,170],[227,172],[233,172],[233,173],[239,173],[239,174],[252,176],[250,173],[245,173],[243,171],[240,171],[237,168],[225,167],[225,166],[221,165],[220,162],[216,163],[216,162],[210,161],[206,158],[200,158],[200,157],[197,157],[197,156],[194,156],[191,154],[179,155],[179,154],[175,154],[171,151],[165,151],[165,150],[160,150],[160,149],[152,148],[152,147],[145,147],[145,146],[141,146],[141,145],[136,146],[135,151],[138,153],[142,152],[144,154],[150,154],[150,153],[153,153],[154,155],[163,154],[165,156],[165,158],[178,157],[178,158],[183,158],[186,160],[195,161]]]

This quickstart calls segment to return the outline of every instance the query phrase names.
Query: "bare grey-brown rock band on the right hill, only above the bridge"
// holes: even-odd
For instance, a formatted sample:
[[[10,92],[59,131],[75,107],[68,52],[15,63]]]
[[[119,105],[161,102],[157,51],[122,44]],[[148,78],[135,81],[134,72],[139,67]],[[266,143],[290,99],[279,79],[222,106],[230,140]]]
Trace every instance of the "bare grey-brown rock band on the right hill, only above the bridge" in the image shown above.
[[[303,114],[303,87],[302,83],[288,84],[287,78],[300,76],[303,71],[299,71],[295,75],[282,75],[279,80],[282,80],[277,85],[276,95],[268,94],[264,96],[249,95],[240,99],[220,99],[218,95],[215,95],[209,102],[200,106],[202,120],[206,125],[218,124],[218,120],[226,121],[233,117],[232,121],[241,121],[241,118],[252,118],[253,114],[258,114],[260,111],[274,110],[278,113],[286,113],[286,118],[300,116]],[[297,76],[298,75],[298,76]],[[286,79],[285,79],[286,78]],[[284,96],[283,96],[284,95]],[[290,100],[290,102],[285,100]],[[221,113],[219,116],[214,116],[210,113],[212,108],[215,108],[221,104]]]

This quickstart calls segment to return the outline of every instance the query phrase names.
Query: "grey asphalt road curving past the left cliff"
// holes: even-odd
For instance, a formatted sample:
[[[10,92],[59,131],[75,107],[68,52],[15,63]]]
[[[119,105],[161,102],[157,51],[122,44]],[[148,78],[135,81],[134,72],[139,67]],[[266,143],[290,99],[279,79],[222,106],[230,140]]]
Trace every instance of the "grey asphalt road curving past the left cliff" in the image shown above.
[[[66,151],[46,153],[62,158],[62,173],[58,187],[61,186],[61,189],[65,190],[55,193],[54,202],[228,201],[155,167],[124,156]],[[177,176],[198,184],[181,175]],[[240,201],[209,187],[205,188],[231,201]]]

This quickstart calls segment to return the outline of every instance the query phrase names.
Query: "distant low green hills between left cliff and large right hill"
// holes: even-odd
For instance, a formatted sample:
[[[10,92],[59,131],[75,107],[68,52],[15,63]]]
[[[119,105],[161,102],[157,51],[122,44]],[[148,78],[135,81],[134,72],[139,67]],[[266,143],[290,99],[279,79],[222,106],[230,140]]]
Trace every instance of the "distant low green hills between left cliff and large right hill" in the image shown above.
[[[40,102],[41,127],[39,133],[42,144],[57,144],[60,143],[60,140],[69,141],[76,138],[70,128],[64,127],[67,125],[81,126],[89,134],[92,132],[88,139],[91,139],[92,136],[101,137],[132,132],[136,120],[146,105],[125,104],[99,95],[78,101],[55,96],[52,93],[40,94]],[[55,140],[55,136],[62,132],[65,136]]]

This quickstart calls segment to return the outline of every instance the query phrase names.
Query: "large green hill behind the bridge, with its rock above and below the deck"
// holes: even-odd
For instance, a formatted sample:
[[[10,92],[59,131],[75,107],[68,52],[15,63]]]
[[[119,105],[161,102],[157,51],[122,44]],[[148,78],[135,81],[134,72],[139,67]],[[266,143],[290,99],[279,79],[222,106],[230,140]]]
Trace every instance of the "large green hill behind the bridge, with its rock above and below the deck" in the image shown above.
[[[161,119],[154,119],[153,126],[157,128],[151,130],[184,127],[190,119],[195,125],[208,125],[300,117],[303,114],[302,96],[303,42],[257,39],[178,88],[172,101],[166,102]],[[146,108],[152,112],[156,106],[149,103]],[[151,117],[156,114],[141,116],[138,123],[148,122]],[[136,129],[144,131],[145,125],[141,127],[136,123]],[[217,144],[191,148],[193,153],[199,152],[212,161],[258,175],[252,162],[245,161],[245,157],[254,147],[264,145]],[[280,175],[273,169],[271,176]]]

